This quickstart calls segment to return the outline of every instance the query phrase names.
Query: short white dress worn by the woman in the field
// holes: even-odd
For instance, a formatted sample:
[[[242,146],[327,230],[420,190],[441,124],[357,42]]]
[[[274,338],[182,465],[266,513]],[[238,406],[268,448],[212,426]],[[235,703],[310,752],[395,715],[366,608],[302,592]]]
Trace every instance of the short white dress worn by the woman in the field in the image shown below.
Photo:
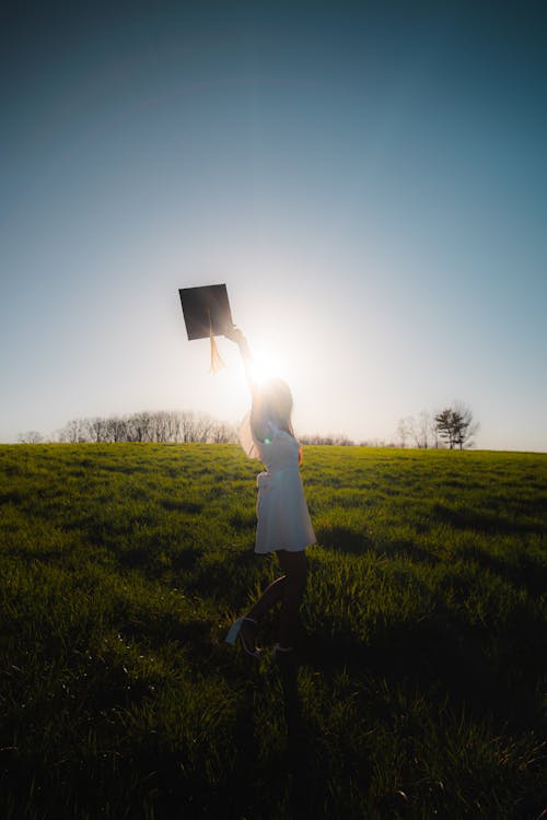
[[[294,436],[267,422],[270,437],[255,438],[247,413],[240,427],[240,441],[249,458],[259,458],[266,471],[257,476],[255,552],[300,552],[316,543],[299,470],[300,444]]]

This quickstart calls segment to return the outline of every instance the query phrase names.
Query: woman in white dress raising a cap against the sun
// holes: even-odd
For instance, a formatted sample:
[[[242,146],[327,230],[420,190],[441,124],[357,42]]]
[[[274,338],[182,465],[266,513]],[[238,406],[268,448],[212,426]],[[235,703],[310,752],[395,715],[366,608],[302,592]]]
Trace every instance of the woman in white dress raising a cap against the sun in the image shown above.
[[[225,641],[233,644],[238,637],[246,654],[259,658],[260,649],[255,643],[258,624],[281,601],[279,643],[272,657],[277,661],[292,660],[307,575],[305,547],[316,542],[299,471],[302,447],[291,424],[292,396],[281,379],[256,384],[252,377],[253,359],[242,331],[234,326],[226,337],[240,348],[252,395],[251,413],[240,431],[242,446],[249,458],[259,458],[266,465],[266,471],[257,478],[255,552],[276,552],[283,575],[232,624]]]

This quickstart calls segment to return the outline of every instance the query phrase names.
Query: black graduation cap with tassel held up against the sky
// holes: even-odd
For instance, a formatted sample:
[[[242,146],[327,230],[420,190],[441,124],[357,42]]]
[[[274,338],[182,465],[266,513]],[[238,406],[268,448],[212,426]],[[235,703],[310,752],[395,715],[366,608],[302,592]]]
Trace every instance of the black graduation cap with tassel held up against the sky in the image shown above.
[[[214,337],[223,336],[233,327],[226,285],[179,288],[178,293],[188,339],[211,340],[211,373],[217,373],[224,366],[224,362],[220,358]]]

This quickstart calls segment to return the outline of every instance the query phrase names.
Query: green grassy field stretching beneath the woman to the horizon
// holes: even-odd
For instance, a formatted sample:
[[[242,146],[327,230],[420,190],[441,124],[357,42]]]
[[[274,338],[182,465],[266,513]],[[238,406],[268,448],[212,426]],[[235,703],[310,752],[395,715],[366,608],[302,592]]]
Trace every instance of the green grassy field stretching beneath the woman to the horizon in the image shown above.
[[[258,470],[0,447],[2,820],[537,818],[547,456],[307,447],[292,677],[223,643],[277,573]]]

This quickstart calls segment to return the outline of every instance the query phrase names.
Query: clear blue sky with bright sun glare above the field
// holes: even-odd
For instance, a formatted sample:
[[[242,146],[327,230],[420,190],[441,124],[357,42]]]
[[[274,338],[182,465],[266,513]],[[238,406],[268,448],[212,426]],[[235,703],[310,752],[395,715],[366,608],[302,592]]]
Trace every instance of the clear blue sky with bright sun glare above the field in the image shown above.
[[[545,4],[14,3],[0,118],[0,441],[236,422],[178,300],[225,282],[298,434],[547,452]]]

